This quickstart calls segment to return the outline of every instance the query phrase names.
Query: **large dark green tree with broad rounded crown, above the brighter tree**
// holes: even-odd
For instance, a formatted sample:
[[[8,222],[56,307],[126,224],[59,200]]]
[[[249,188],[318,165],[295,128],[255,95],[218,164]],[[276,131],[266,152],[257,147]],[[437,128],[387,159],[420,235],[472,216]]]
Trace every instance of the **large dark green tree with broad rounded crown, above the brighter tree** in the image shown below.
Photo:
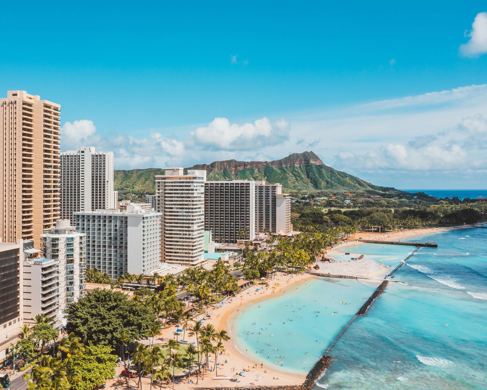
[[[120,345],[123,333],[129,342],[146,338],[156,322],[149,308],[128,299],[123,292],[99,289],[71,304],[66,319],[66,330],[79,335],[84,344],[104,344],[113,349]]]

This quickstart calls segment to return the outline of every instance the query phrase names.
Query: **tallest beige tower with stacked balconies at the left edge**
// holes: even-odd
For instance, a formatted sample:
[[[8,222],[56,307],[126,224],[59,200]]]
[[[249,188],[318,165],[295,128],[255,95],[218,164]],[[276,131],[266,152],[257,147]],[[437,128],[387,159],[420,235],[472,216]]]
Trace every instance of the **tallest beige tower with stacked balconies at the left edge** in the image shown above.
[[[0,237],[38,247],[59,218],[61,106],[25,91],[0,103]]]

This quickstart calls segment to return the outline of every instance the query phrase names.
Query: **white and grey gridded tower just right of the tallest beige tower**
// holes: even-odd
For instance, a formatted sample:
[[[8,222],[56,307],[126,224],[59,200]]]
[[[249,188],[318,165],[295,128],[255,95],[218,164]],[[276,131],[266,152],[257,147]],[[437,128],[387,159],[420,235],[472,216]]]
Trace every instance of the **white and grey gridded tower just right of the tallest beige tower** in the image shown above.
[[[115,209],[113,152],[95,152],[82,147],[60,154],[60,214],[71,220],[73,213]]]

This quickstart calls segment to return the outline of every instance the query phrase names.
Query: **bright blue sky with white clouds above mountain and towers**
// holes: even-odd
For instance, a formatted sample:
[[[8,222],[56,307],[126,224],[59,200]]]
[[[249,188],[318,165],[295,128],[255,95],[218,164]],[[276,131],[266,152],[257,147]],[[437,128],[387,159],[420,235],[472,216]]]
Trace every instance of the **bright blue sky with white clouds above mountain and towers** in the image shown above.
[[[116,169],[313,150],[376,184],[486,187],[485,1],[9,11],[0,91],[60,103],[62,149],[113,150]]]

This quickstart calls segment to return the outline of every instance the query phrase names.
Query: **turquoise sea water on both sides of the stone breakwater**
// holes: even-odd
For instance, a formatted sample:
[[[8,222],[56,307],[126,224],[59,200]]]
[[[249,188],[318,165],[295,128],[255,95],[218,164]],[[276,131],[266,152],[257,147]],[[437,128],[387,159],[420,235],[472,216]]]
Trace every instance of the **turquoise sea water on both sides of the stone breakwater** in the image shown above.
[[[393,280],[404,283],[390,283],[367,315],[357,317],[337,341],[329,353],[334,359],[317,390],[487,389],[487,229],[460,229],[420,239],[430,238],[439,247],[414,254],[395,273]],[[375,259],[396,257],[384,261],[391,266],[411,251],[375,244],[346,249]],[[309,370],[373,290],[354,280],[333,280],[348,287],[313,280],[286,292],[289,295],[261,302],[260,308],[248,307],[232,324],[237,347],[259,364],[285,361],[282,367],[271,364],[294,372]],[[340,305],[336,298],[351,304]],[[331,316],[330,311],[338,315]],[[328,315],[320,316],[323,312]],[[276,330],[278,318],[285,330]],[[293,319],[292,334],[287,332],[288,319]],[[260,328],[265,330],[264,325],[273,321],[274,336],[268,336]],[[255,322],[261,335],[247,336],[244,330],[255,331],[251,330]],[[277,360],[281,351],[285,359]],[[401,363],[393,363],[396,359]]]

